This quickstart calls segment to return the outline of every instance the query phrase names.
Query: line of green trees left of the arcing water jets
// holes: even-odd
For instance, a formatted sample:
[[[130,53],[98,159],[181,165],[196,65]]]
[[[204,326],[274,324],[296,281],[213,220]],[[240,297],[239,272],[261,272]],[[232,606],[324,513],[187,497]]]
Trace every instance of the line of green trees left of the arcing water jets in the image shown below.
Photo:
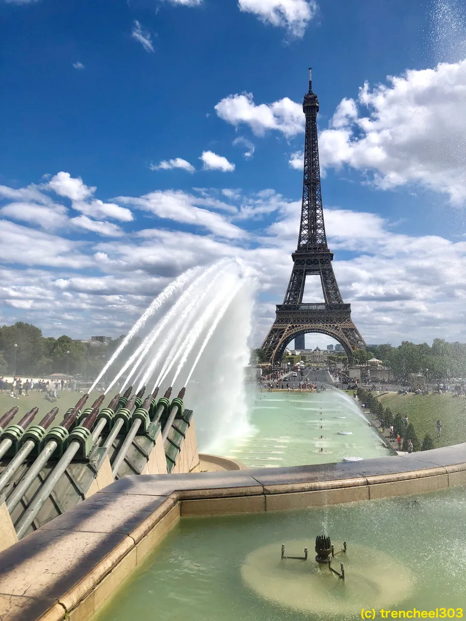
[[[96,376],[109,360],[122,338],[107,345],[89,346],[63,335],[44,337],[32,324],[16,322],[0,327],[0,376],[14,373],[18,377],[46,377],[51,373]],[[14,347],[14,345],[17,347]],[[68,354],[66,352],[69,352]]]

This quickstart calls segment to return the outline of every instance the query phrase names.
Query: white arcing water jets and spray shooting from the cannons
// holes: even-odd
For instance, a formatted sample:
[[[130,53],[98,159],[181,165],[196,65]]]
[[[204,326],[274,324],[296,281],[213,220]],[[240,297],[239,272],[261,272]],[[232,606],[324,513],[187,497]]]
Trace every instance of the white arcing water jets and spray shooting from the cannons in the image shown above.
[[[186,386],[199,450],[248,428],[244,369],[256,283],[239,261],[224,259],[180,276],[151,304],[107,363],[106,392],[133,385],[176,394]],[[131,336],[130,336],[131,335]],[[134,351],[131,338],[140,340]],[[113,366],[112,366],[113,365]]]

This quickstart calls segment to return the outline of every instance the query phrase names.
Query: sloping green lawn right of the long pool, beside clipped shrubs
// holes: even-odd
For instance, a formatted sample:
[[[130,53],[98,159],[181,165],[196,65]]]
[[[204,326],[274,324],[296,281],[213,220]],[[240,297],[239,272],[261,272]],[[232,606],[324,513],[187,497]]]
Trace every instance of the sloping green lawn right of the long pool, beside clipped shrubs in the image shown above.
[[[464,397],[454,398],[451,394],[397,395],[392,392],[380,396],[379,401],[383,407],[390,407],[393,415],[397,412],[403,416],[407,415],[421,442],[426,433],[429,433],[436,447],[466,442],[466,399]],[[440,440],[437,440],[437,419],[442,424]]]

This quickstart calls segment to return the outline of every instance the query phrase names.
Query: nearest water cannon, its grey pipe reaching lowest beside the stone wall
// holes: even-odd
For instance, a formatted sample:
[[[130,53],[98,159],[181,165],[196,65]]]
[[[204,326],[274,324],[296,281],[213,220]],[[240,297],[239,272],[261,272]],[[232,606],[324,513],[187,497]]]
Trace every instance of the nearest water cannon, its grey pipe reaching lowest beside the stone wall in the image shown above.
[[[68,448],[66,448],[62,458],[58,461],[57,465],[53,468],[47,479],[45,479],[45,483],[42,487],[40,487],[39,491],[34,496],[34,499],[30,502],[22,515],[21,520],[19,520],[16,525],[16,533],[19,539],[25,535],[25,532],[32,524],[35,516],[39,513],[44,502],[52,493],[53,488],[57,485],[58,480],[65,472],[66,468],[68,468],[78,450],[81,449],[81,454],[88,454],[88,452],[90,452],[93,444],[90,430],[94,422],[96,422],[98,414],[99,407],[94,407],[83,425],[76,427],[76,429],[70,433],[70,443],[68,444]]]

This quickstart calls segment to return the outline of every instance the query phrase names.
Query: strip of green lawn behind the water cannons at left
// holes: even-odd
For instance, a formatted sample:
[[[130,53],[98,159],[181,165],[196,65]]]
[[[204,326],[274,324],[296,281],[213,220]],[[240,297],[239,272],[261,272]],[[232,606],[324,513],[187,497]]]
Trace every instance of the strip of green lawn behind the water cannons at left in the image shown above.
[[[109,395],[105,398],[104,406],[106,406],[110,402],[111,397],[114,396],[115,393],[116,391],[111,391],[109,393]],[[91,404],[93,404],[93,402],[96,401],[96,399],[100,395],[101,393],[99,393],[98,391],[91,392],[91,395],[86,402],[86,407],[91,406]],[[44,399],[44,396],[45,392],[33,391],[30,392],[27,397],[23,395],[19,397],[19,399],[12,399],[9,396],[9,391],[2,392],[2,394],[0,394],[0,417],[12,407],[18,406],[19,411],[12,420],[12,423],[17,423],[26,412],[29,412],[29,410],[37,406],[39,407],[39,412],[35,415],[34,422],[32,422],[32,425],[37,425],[39,424],[40,420],[43,419],[45,414],[47,414],[47,412],[50,412],[52,407],[58,407],[58,414],[53,421],[53,426],[59,425],[60,422],[62,422],[63,420],[63,416],[65,415],[66,410],[68,410],[68,408],[70,407],[75,406],[76,403],[79,401],[80,397],[82,397],[83,395],[80,392],[58,391],[58,399],[55,403],[50,403],[50,401]]]

